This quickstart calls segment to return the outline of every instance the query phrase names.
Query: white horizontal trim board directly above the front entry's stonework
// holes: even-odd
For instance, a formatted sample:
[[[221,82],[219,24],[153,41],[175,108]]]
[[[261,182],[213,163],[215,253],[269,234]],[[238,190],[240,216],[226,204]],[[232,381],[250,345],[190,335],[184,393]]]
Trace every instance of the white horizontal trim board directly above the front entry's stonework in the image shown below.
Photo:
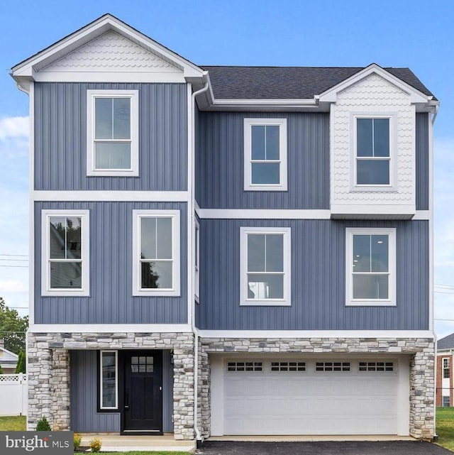
[[[173,333],[190,332],[191,324],[32,324],[28,331],[33,333]]]

